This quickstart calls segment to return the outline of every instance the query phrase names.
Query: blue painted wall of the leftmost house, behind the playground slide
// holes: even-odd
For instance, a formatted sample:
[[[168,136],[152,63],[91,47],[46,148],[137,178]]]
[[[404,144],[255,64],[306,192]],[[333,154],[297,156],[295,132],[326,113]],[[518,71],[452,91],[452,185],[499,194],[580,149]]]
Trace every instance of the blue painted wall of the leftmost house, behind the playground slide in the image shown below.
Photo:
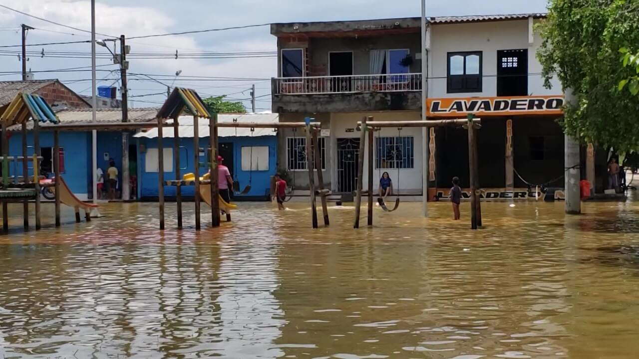
[[[33,134],[27,134],[27,153],[33,155]],[[53,147],[53,132],[40,133],[40,147]],[[60,132],[60,147],[65,152],[65,171],[62,176],[70,190],[76,194],[88,194],[91,187],[91,134],[89,132]],[[13,132],[9,139],[9,155],[22,156],[22,136],[20,132]],[[33,167],[29,162],[29,167]],[[14,169],[10,165],[12,175],[22,176],[22,164]],[[29,170],[33,176],[33,170]]]

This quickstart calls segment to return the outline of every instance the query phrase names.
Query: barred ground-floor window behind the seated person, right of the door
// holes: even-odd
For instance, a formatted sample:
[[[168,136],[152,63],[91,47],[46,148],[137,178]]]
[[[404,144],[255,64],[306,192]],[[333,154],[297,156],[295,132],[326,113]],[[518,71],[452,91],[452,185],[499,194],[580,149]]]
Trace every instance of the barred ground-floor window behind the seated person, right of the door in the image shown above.
[[[413,168],[413,137],[376,137],[377,168]]]

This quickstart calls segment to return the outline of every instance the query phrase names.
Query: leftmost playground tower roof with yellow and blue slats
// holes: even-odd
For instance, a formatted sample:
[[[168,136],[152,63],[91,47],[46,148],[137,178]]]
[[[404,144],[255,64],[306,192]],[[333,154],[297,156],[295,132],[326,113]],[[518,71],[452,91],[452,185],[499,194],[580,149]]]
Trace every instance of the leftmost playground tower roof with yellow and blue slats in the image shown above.
[[[29,118],[43,123],[57,124],[60,122],[49,103],[44,98],[31,93],[18,93],[15,95],[15,98],[0,116],[0,121],[6,123],[7,126],[12,126],[18,123],[25,123]]]

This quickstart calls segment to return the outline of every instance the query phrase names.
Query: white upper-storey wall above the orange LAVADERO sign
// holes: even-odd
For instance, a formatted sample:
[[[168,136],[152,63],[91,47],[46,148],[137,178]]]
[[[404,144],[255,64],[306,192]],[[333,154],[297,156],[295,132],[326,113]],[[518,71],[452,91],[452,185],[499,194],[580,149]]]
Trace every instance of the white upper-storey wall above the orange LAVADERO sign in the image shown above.
[[[535,24],[538,20],[535,20]],[[557,79],[553,88],[543,86],[541,64],[536,52],[541,46],[541,36],[534,33],[529,42],[528,20],[475,22],[470,24],[431,24],[429,50],[429,85],[431,98],[497,96],[497,51],[528,49],[528,95],[557,95],[562,93]],[[482,52],[482,92],[447,93],[447,68],[449,52]]]

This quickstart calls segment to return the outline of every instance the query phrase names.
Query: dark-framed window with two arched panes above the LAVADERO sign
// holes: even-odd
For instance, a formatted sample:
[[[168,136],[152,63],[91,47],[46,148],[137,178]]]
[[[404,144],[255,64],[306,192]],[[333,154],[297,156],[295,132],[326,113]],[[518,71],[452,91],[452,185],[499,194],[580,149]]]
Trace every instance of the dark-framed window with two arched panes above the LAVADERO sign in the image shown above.
[[[449,52],[448,93],[481,91],[481,52]]]

